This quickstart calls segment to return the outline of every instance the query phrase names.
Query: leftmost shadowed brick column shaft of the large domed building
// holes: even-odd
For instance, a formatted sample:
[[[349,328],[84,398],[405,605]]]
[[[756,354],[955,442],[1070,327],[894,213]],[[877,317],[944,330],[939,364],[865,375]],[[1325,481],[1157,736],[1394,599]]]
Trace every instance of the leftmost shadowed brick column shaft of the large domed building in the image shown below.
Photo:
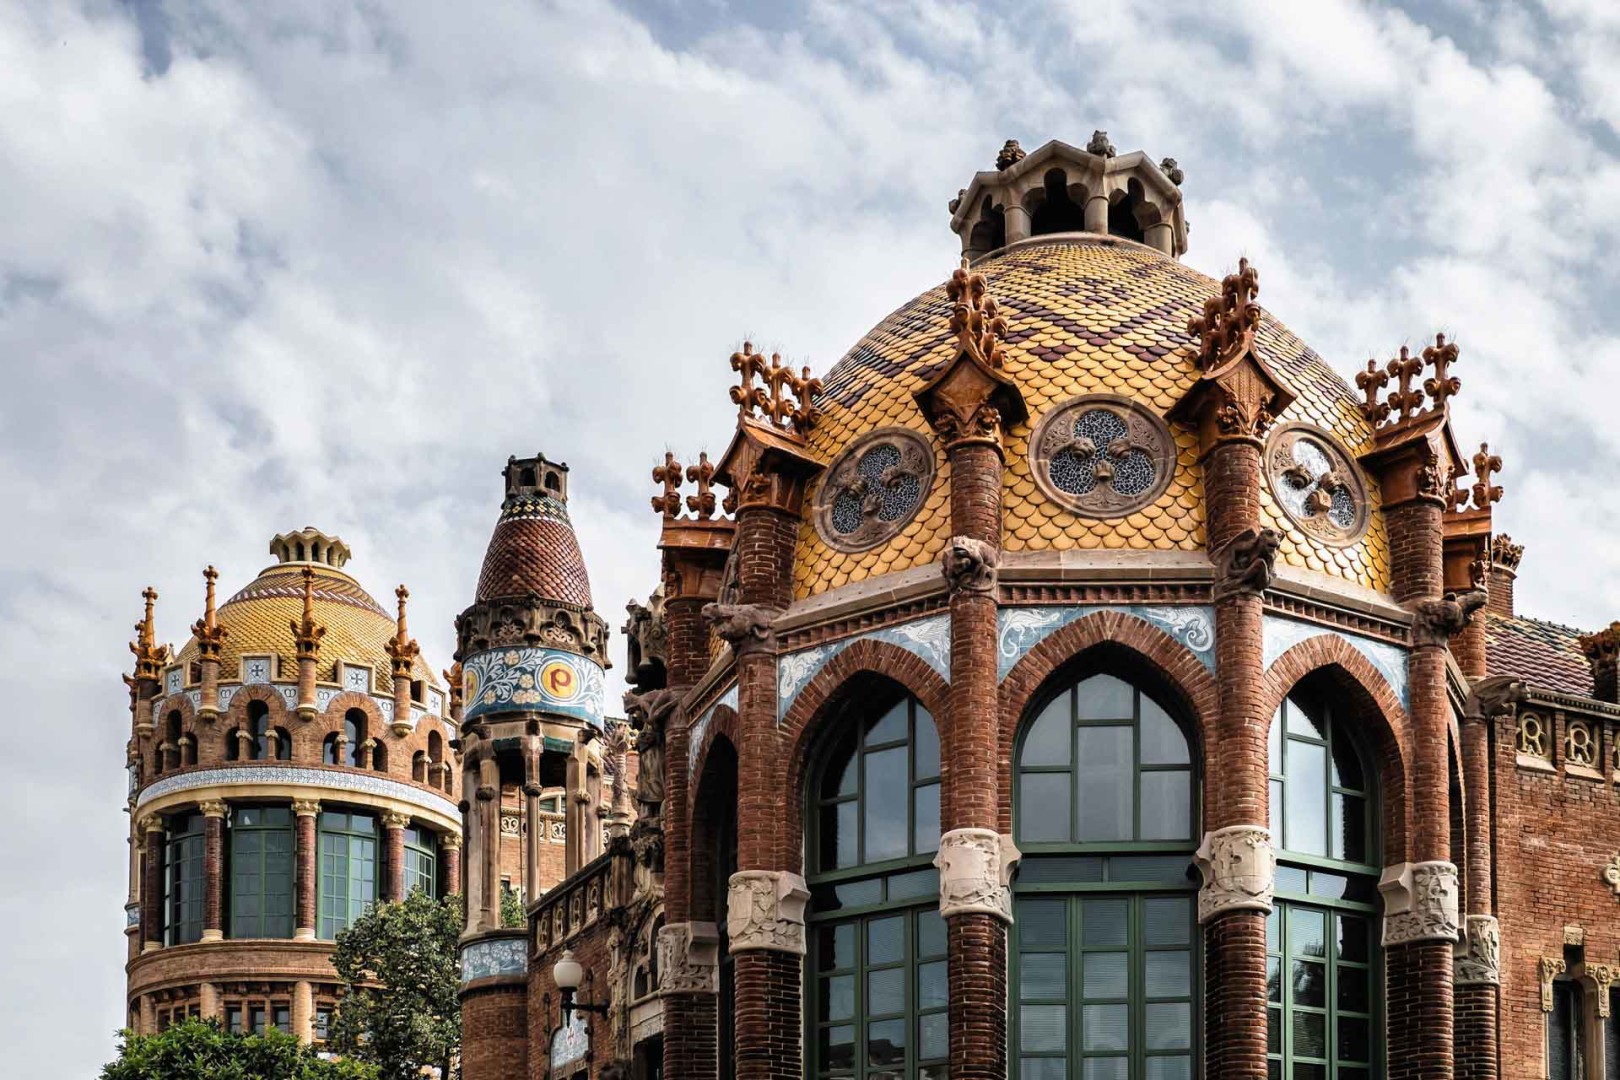
[[[664,591],[672,575],[666,576]],[[669,687],[685,691],[708,669],[708,627],[703,622],[706,597],[664,601],[664,649]],[[692,753],[688,724],[669,732],[664,750],[664,921],[685,923],[692,912],[692,795],[687,789],[687,761]],[[711,916],[713,913],[710,913]],[[664,1075],[688,1080],[716,1080],[719,1054],[716,1038],[719,994],[666,994]]]

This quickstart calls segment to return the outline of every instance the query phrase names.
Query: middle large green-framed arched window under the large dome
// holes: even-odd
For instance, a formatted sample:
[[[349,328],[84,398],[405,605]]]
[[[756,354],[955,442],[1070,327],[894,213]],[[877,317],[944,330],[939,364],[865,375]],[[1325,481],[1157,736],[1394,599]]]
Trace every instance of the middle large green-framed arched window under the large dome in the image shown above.
[[[1197,758],[1152,680],[1110,659],[1055,678],[1016,745],[1019,1080],[1194,1075]]]

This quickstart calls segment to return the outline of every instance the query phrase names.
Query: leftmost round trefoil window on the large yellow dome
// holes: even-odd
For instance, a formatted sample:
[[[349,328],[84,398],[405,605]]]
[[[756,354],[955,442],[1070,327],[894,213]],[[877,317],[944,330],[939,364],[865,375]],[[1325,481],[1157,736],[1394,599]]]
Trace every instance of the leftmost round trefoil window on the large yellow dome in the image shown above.
[[[876,547],[904,528],[933,486],[933,447],[907,427],[868,432],[826,470],[815,526],[838,551]]]

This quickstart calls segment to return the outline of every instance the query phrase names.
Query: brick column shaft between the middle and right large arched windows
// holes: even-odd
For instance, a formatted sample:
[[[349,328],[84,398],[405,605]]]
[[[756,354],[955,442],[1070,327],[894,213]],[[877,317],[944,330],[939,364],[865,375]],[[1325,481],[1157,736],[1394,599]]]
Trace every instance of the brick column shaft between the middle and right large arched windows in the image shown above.
[[[1204,492],[1212,554],[1247,529],[1259,529],[1260,447],[1249,440],[1215,444],[1204,460]],[[1233,591],[1215,602],[1220,717],[1209,748],[1213,819],[1205,823],[1207,832],[1270,824],[1270,716],[1260,703],[1264,612],[1260,594],[1252,591]],[[1204,949],[1207,1075],[1264,1078],[1265,912],[1226,910],[1212,916],[1204,925]]]

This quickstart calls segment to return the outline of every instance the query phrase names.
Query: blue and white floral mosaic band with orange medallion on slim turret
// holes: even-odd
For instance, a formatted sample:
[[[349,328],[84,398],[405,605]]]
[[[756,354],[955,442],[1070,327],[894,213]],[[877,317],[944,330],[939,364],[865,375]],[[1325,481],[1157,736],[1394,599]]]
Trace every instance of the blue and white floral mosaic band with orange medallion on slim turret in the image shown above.
[[[603,725],[603,669],[562,649],[510,648],[476,653],[462,667],[465,719],[486,712],[536,711]]]

